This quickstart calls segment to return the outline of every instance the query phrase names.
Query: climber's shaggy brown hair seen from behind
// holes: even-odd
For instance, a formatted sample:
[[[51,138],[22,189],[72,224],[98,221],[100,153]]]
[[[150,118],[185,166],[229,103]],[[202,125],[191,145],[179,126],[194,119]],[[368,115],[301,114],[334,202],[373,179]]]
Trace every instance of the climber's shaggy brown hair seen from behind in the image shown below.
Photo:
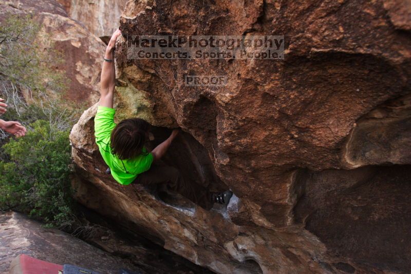
[[[119,159],[132,159],[142,153],[150,124],[143,119],[124,119],[111,132],[111,153]]]

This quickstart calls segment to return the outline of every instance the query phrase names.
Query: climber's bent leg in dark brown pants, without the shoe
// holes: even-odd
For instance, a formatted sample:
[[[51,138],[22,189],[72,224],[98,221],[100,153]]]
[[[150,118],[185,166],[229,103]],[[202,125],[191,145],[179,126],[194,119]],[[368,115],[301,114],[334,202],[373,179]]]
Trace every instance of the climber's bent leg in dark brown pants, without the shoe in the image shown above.
[[[204,209],[210,209],[213,204],[212,194],[207,188],[194,182],[187,183],[174,167],[153,165],[150,170],[139,174],[134,182],[141,185],[166,183],[168,190],[180,193]]]

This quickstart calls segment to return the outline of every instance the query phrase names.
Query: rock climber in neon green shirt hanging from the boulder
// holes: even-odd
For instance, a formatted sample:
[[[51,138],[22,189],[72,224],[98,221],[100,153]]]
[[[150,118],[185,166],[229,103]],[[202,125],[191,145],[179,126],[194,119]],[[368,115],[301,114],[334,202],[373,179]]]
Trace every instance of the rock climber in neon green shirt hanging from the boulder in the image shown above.
[[[159,160],[177,137],[179,130],[173,130],[169,138],[148,152],[144,147],[150,133],[148,122],[139,118],[124,119],[118,124],[114,122],[114,50],[120,34],[120,30],[114,32],[105,51],[101,70],[101,97],[94,120],[96,142],[109,167],[107,173],[111,173],[121,185],[165,186],[166,192],[178,192],[205,209],[211,209],[214,203],[227,206],[232,196],[231,191],[210,192],[194,182],[189,184],[176,168],[160,163]]]

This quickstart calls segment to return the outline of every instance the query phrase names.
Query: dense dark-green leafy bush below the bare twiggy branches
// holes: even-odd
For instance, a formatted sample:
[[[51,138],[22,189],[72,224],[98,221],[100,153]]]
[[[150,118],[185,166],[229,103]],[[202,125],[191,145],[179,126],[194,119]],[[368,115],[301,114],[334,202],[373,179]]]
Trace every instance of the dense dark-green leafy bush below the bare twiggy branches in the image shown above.
[[[49,226],[73,221],[69,131],[39,120],[3,145],[0,209],[29,213]]]

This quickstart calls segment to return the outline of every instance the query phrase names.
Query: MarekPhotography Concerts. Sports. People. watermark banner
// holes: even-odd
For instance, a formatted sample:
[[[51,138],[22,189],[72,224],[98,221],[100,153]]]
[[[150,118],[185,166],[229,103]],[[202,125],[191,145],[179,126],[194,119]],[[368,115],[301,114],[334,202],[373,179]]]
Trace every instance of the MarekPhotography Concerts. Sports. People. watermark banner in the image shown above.
[[[284,35],[129,35],[128,59],[284,59]]]

